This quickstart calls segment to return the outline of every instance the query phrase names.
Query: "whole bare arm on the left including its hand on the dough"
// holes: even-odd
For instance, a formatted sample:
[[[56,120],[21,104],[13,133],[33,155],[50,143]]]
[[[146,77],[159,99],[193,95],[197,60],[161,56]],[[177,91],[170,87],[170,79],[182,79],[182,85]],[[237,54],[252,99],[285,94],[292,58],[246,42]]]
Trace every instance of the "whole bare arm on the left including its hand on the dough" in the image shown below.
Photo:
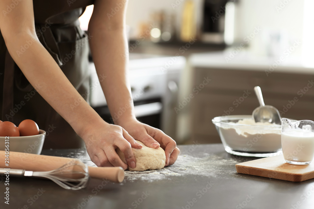
[[[0,11],[11,3],[11,0],[1,0]],[[5,16],[1,14],[0,29],[10,55],[25,77],[32,86],[40,86],[39,94],[84,139],[89,156],[96,165],[127,168],[114,151],[119,147],[128,156],[128,165],[135,167],[131,144],[135,148],[141,146],[136,145],[135,140],[123,128],[110,125],[100,118],[39,42],[35,34],[32,0],[20,1],[10,13]],[[16,51],[27,42],[31,43],[29,48],[23,54],[17,54]],[[72,109],[71,105],[80,98],[83,102]]]

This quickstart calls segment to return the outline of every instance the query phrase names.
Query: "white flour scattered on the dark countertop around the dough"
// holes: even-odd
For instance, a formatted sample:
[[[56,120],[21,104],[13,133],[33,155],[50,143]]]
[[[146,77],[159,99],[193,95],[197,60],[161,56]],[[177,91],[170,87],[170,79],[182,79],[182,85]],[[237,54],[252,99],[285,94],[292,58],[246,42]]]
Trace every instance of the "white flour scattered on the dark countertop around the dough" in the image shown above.
[[[198,152],[194,150],[193,152]],[[234,156],[221,152],[218,155],[212,153],[198,154],[198,157],[192,156],[193,152],[183,151],[176,160],[175,164],[165,167],[160,170],[145,170],[145,171],[125,171],[126,182],[134,182],[137,180],[153,182],[159,180],[171,180],[174,177],[180,176],[192,177],[204,176],[204,177],[222,177],[223,173],[236,175],[236,163],[240,161]],[[77,152],[70,152],[63,157],[77,158],[84,162],[88,166],[97,167],[89,158],[88,154],[84,150]],[[226,169],[226,167],[232,167],[234,169]],[[122,183],[122,184],[123,184]]]

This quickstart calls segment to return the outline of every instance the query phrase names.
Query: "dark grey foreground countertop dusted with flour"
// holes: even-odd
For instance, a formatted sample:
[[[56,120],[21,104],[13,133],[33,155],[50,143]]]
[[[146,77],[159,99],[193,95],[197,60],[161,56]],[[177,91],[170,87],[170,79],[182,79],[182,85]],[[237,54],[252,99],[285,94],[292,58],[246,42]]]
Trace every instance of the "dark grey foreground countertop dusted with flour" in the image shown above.
[[[91,179],[86,188],[69,191],[50,180],[10,178],[10,205],[4,204],[2,197],[1,208],[313,207],[314,180],[295,183],[237,174],[236,163],[256,158],[228,154],[222,144],[178,147],[181,154],[174,165],[162,170],[126,171],[121,184]],[[75,157],[93,165],[84,150],[43,150],[42,154]],[[2,182],[2,191],[3,187]]]

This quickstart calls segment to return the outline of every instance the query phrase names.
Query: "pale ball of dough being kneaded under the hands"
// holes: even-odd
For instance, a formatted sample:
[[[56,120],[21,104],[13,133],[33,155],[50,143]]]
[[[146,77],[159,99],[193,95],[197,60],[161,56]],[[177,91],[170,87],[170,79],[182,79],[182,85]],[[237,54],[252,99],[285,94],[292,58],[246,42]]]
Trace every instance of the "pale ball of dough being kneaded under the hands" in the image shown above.
[[[136,140],[137,143],[142,144],[142,149],[132,148],[134,157],[136,159],[136,167],[128,168],[132,171],[143,171],[143,170],[158,170],[165,167],[166,164],[166,155],[165,151],[159,147],[158,149],[153,149],[146,147],[142,142]],[[117,154],[122,159],[124,163],[127,163],[125,160],[124,154],[118,148]]]

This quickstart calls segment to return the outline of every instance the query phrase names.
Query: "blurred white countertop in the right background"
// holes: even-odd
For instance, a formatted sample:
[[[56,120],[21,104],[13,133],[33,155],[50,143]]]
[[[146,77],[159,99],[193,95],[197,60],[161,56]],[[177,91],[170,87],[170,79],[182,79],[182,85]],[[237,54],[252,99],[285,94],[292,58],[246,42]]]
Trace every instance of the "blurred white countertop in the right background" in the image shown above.
[[[241,51],[232,54],[234,51],[225,50],[220,52],[194,53],[191,54],[188,62],[192,67],[234,69],[249,71],[310,74],[314,73],[314,63],[309,60],[302,60],[292,55],[279,57],[257,56],[249,52]]]

